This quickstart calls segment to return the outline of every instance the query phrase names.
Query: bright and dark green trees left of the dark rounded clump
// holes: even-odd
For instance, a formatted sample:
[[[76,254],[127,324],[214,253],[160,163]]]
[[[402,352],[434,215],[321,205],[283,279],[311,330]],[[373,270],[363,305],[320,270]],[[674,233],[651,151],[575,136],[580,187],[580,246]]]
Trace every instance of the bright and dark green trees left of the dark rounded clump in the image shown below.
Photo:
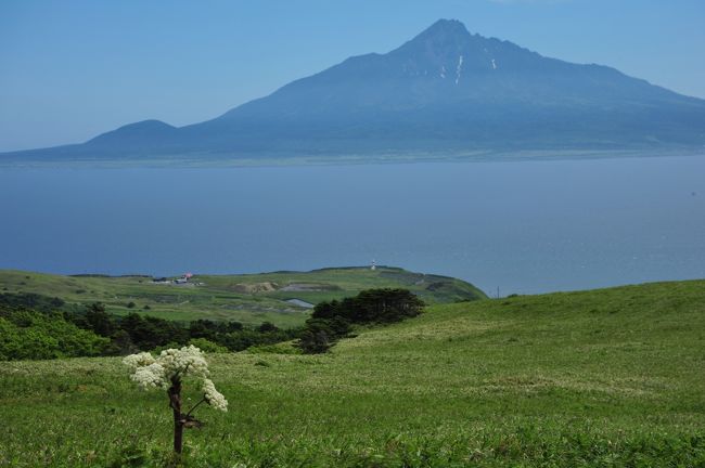
[[[125,355],[195,344],[204,351],[242,351],[298,337],[271,323],[197,320],[188,324],[130,313],[117,316],[101,303],[65,304],[34,294],[0,295],[0,360]]]

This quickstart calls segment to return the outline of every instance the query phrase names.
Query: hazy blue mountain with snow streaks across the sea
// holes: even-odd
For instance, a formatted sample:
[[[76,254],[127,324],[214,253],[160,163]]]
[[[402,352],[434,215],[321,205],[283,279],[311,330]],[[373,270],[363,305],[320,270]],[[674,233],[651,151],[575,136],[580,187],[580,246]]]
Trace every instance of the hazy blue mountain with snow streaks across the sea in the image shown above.
[[[201,123],[125,126],[31,156],[264,157],[703,147],[705,101],[600,65],[548,58],[440,20]]]

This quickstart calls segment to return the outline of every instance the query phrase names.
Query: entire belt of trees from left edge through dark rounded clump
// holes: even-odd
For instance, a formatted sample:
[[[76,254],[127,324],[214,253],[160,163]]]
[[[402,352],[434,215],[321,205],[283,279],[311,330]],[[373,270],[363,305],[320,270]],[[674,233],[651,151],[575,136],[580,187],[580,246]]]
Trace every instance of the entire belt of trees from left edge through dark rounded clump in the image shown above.
[[[207,352],[242,351],[297,338],[303,352],[322,353],[355,325],[398,322],[423,307],[407,289],[368,289],[319,303],[303,328],[280,329],[269,322],[252,328],[208,320],[184,324],[137,312],[117,316],[98,302],[80,307],[35,294],[2,294],[0,360],[126,355],[184,344]]]

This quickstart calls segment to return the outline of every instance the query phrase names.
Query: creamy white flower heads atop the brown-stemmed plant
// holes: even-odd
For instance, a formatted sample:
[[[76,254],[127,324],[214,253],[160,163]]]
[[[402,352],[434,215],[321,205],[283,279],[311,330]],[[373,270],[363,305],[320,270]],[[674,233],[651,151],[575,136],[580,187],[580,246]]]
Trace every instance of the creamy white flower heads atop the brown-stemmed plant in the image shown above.
[[[194,346],[162,351],[156,359],[149,352],[130,354],[123,360],[123,364],[130,369],[130,378],[145,389],[168,388],[174,378],[201,378],[206,403],[216,410],[228,411],[228,401],[207,378],[208,363],[203,351]]]

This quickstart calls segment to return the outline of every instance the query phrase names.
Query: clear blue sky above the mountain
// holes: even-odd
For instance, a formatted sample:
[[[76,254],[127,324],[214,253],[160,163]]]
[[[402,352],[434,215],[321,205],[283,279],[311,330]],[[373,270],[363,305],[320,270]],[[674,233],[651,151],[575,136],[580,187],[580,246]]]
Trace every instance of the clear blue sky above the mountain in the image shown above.
[[[2,0],[0,152],[213,118],[440,17],[705,98],[704,0]]]

